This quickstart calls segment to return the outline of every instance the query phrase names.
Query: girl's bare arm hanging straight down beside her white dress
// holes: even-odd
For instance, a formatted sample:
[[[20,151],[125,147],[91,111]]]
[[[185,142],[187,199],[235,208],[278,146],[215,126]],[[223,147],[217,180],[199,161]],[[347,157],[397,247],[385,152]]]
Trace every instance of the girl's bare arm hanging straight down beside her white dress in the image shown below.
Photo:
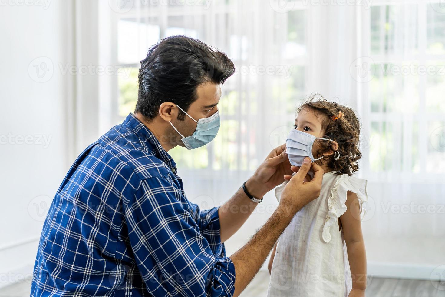
[[[366,252],[360,222],[360,203],[357,195],[348,191],[346,198],[348,210],[340,216],[343,236],[348,250],[351,268],[352,290],[349,297],[364,297],[366,289]]]

